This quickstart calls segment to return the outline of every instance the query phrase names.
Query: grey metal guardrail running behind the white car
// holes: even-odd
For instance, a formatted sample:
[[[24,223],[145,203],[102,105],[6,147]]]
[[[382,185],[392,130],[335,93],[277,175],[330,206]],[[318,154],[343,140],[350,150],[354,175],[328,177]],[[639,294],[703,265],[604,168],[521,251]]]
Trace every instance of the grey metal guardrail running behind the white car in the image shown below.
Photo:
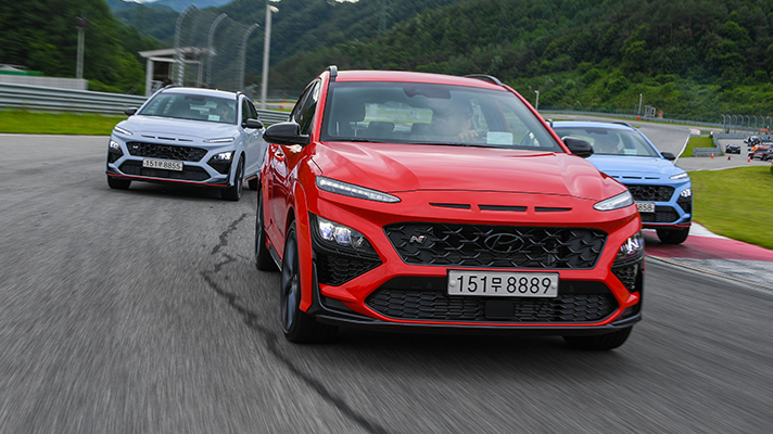
[[[126,108],[139,107],[147,99],[123,93],[0,82],[0,108],[123,115]],[[257,114],[267,126],[288,118],[287,112],[258,110]]]

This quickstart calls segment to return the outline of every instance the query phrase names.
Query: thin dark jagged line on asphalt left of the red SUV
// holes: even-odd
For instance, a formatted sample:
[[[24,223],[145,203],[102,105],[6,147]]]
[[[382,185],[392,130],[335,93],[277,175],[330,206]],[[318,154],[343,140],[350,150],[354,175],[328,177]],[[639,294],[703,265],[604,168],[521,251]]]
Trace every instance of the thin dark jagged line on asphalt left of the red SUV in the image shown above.
[[[218,254],[223,250],[223,247],[228,245],[228,234],[233,232],[239,226],[239,224],[244,220],[244,218],[246,218],[246,214],[243,214],[241,217],[236,219],[228,226],[225,231],[223,231],[223,233],[220,233],[219,243],[212,250],[212,255]],[[233,310],[236,310],[243,318],[244,323],[250,329],[255,330],[264,337],[269,353],[271,353],[282,365],[284,365],[284,367],[290,372],[292,372],[295,376],[301,379],[304,383],[306,383],[306,385],[314,390],[325,401],[332,405],[342,414],[358,424],[365,431],[377,434],[389,433],[389,431],[385,430],[383,426],[368,420],[366,417],[358,413],[349,404],[346,404],[343,398],[338,397],[335,394],[330,392],[330,390],[328,390],[322,383],[305,373],[297,366],[295,366],[292,360],[290,360],[281,353],[279,347],[278,333],[258,323],[258,319],[261,317],[256,312],[245,307],[237,294],[230,293],[220,288],[220,285],[218,285],[217,275],[219,273],[219,271],[223,269],[224,266],[236,261],[232,256],[229,256],[225,253],[223,253],[221,255],[225,257],[225,259],[216,263],[215,268],[213,270],[202,271],[201,277],[218,296],[225,298],[228,302],[228,305],[231,306],[231,308],[233,308]]]

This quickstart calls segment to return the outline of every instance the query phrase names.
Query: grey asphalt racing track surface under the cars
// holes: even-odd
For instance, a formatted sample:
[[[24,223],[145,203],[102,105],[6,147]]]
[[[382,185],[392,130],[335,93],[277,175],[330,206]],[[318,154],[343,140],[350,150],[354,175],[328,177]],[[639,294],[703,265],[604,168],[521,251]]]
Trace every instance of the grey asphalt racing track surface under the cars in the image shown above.
[[[613,352],[293,345],[252,265],[253,193],[110,190],[106,141],[0,135],[0,433],[770,432],[773,293],[648,258]]]

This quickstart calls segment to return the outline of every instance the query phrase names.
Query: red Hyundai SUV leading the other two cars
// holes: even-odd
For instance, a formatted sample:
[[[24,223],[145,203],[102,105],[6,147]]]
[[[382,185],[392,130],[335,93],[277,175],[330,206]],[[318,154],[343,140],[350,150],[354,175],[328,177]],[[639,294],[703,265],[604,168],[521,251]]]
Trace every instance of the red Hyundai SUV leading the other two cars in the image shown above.
[[[609,349],[641,319],[631,193],[494,77],[331,66],[265,139],[255,265],[281,270],[292,342],[351,326]]]

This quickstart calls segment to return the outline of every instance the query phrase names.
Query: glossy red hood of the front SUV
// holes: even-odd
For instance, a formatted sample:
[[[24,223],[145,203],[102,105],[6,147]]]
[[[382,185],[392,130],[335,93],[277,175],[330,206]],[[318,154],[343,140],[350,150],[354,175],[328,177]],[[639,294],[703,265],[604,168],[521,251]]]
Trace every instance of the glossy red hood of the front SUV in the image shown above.
[[[598,201],[625,190],[583,158],[563,153],[400,143],[316,146],[313,159],[326,177],[388,193],[510,192]]]

